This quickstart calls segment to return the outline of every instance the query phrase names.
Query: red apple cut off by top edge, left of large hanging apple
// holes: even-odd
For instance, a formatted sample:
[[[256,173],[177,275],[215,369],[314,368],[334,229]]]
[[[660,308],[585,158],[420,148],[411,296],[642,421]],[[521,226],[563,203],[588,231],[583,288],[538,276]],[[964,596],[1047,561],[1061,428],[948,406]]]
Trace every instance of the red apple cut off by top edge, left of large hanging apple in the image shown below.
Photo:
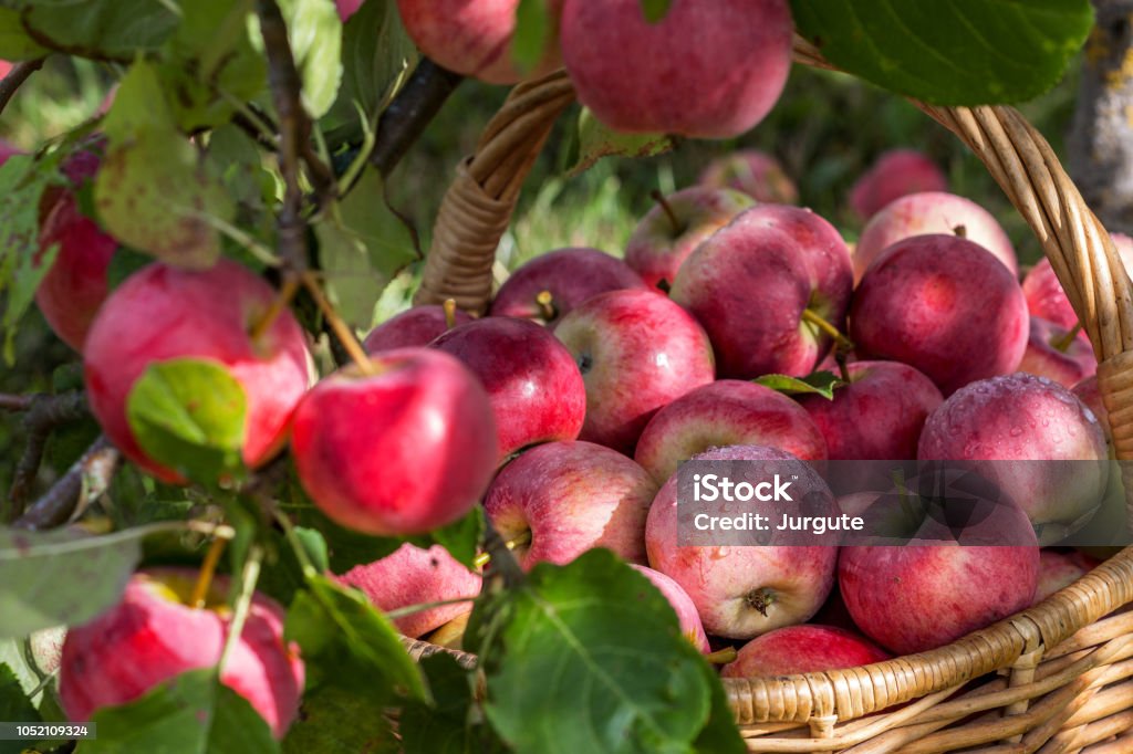
[[[545,2],[551,25],[562,0]],[[514,84],[523,77],[512,51],[520,0],[398,0],[401,23],[426,57],[443,68],[488,84]],[[341,12],[341,10],[340,10]],[[375,29],[376,31],[376,29]],[[557,35],[551,34],[533,76],[560,62]]]

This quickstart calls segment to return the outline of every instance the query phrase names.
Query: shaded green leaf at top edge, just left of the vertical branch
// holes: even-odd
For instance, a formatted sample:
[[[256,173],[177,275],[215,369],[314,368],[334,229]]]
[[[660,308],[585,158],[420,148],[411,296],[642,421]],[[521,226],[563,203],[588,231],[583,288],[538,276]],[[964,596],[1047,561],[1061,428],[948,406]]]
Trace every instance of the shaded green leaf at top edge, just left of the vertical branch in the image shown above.
[[[267,80],[267,63],[252,40],[254,0],[194,0],[181,3],[181,23],[162,50],[161,78],[186,131],[220,126],[232,102],[255,98]]]

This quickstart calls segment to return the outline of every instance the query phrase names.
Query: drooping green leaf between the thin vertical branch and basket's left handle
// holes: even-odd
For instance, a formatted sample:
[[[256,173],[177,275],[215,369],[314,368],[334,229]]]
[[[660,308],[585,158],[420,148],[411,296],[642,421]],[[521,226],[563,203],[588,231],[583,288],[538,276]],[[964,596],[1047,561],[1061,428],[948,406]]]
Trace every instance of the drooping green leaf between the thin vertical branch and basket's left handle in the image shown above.
[[[367,169],[315,225],[329,295],[347,322],[365,326],[377,294],[417,258],[414,235],[385,203],[382,177]]]

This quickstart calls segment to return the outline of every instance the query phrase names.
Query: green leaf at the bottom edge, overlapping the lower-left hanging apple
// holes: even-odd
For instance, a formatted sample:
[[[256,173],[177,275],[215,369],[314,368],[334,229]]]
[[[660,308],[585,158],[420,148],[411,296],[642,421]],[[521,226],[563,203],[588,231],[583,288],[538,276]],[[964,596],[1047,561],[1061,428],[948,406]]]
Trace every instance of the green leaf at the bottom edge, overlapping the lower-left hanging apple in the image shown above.
[[[271,729],[213,668],[190,670],[140,699],[95,712],[84,754],[273,754]]]

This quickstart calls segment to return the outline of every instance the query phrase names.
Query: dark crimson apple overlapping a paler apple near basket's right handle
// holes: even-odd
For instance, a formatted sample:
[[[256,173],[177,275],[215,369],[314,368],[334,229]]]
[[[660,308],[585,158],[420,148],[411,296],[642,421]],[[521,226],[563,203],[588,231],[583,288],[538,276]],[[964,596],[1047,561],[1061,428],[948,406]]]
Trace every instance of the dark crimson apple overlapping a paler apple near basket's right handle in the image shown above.
[[[866,273],[850,310],[859,355],[915,367],[946,396],[1014,371],[1026,332],[1019,283],[986,249],[956,235],[891,246]]]

